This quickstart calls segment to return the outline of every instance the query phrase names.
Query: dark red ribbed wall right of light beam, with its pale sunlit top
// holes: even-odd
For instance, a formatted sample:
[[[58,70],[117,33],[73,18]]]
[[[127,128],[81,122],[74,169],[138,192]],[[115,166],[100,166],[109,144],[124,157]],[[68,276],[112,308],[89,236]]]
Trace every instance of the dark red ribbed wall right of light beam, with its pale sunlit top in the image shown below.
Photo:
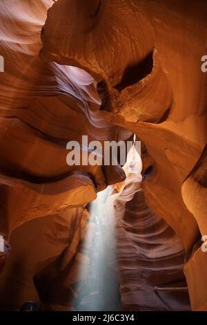
[[[188,292],[173,289],[186,286],[183,246],[164,219],[150,211],[138,183],[140,169],[132,163],[129,158],[124,186],[113,195],[121,302],[126,310],[189,310]],[[162,290],[156,292],[155,286]]]

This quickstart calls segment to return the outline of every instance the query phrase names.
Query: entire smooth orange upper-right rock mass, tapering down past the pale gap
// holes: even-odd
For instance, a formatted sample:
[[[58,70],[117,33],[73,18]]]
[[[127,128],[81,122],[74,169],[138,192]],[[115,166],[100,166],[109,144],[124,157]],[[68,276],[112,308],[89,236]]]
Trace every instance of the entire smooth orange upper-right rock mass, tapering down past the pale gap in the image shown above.
[[[79,66],[95,77],[103,115],[136,133],[154,160],[153,175],[144,182],[150,207],[190,250],[199,229],[184,205],[181,184],[206,145],[206,78],[200,68],[206,3],[190,3],[188,15],[184,1],[106,0],[94,6],[94,15],[85,10],[79,18],[75,1],[55,3],[41,34],[41,57]],[[70,23],[66,12],[73,17]],[[75,30],[80,19],[84,28]]]

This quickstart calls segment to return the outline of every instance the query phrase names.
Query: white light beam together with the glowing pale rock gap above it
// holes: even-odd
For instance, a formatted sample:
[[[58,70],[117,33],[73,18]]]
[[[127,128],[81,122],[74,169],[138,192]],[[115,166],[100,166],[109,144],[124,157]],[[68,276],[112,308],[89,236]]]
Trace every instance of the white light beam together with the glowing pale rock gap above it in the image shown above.
[[[77,310],[121,310],[114,201],[124,189],[128,177],[132,176],[135,183],[141,182],[142,164],[135,146],[128,152],[123,168],[126,181],[99,192],[90,205],[90,219],[83,244],[83,251],[90,257],[90,265],[87,270],[86,263],[81,263]]]

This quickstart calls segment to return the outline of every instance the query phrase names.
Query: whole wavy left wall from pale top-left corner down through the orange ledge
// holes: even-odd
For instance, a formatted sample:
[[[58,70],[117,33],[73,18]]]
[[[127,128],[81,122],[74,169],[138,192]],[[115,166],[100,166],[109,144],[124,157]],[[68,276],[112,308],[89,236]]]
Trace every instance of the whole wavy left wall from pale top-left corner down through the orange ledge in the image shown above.
[[[110,127],[95,111],[100,100],[88,73],[39,58],[52,3],[1,1],[1,233],[8,237],[28,220],[92,201],[125,177],[119,166],[66,163],[69,140],[81,142],[82,134],[88,141],[125,140],[130,132]]]

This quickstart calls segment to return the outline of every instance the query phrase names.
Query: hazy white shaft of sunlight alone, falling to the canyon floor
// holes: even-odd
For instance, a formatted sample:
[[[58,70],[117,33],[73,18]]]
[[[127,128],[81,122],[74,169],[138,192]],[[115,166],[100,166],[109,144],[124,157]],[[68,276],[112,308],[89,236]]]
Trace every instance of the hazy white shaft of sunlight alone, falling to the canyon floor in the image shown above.
[[[88,279],[78,284],[77,310],[121,310],[115,242],[115,215],[108,215],[110,189],[99,192],[89,209],[83,250],[88,251]],[[79,270],[79,275],[85,270]]]

